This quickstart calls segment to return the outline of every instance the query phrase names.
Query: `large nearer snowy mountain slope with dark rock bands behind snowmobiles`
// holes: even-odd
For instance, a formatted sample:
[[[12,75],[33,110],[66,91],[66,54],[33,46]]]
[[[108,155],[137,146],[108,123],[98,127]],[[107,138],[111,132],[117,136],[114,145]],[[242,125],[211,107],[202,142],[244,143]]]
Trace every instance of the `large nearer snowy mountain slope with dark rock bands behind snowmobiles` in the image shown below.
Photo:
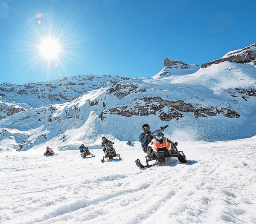
[[[3,148],[26,150],[45,143],[92,144],[103,135],[135,141],[143,123],[151,130],[168,124],[166,135],[174,141],[251,137],[256,128],[256,65],[249,52],[254,45],[231,52],[242,55],[244,63],[227,54],[224,61],[199,70],[195,65],[192,74],[188,66],[184,75],[121,80],[73,101],[19,112],[0,121],[0,142]]]

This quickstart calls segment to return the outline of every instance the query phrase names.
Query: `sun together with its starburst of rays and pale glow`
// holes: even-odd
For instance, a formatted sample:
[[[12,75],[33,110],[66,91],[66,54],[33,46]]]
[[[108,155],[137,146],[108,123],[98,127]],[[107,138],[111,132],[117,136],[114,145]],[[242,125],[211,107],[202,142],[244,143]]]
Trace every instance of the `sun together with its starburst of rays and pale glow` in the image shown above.
[[[21,50],[28,55],[29,69],[37,68],[42,77],[69,74],[67,65],[81,57],[76,53],[79,36],[74,35],[73,23],[62,24],[49,13],[38,13],[28,20]]]

